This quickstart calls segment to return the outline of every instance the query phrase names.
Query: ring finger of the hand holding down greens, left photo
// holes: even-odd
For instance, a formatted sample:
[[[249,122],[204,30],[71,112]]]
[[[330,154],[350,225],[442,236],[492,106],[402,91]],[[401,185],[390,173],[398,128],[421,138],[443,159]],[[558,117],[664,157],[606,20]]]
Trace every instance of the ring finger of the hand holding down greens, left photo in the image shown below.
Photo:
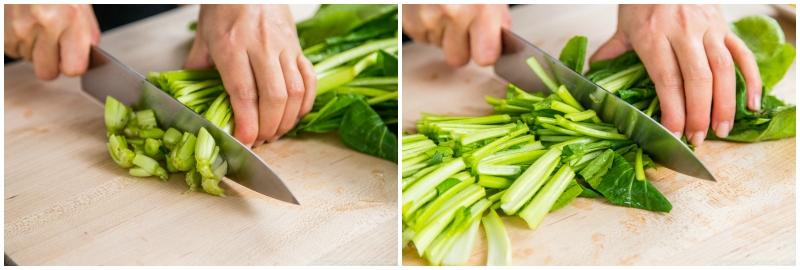
[[[278,131],[275,133],[269,142],[274,142],[286,132],[289,132],[294,127],[297,115],[300,114],[300,106],[303,104],[303,94],[305,94],[305,85],[303,83],[303,76],[297,67],[296,57],[291,57],[287,53],[281,55],[281,69],[283,70],[283,79],[286,82],[286,108],[283,110],[283,117],[278,126]]]

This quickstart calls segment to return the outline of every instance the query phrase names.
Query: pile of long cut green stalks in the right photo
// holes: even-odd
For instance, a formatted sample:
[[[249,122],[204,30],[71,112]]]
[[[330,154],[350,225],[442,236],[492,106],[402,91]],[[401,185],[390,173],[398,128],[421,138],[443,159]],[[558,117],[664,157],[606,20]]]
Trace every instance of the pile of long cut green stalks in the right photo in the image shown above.
[[[495,210],[520,216],[535,230],[547,213],[578,196],[672,209],[646,179],[653,161],[563,85],[549,96],[514,85],[506,93],[506,99],[486,97],[494,115],[423,114],[419,134],[403,135],[404,247],[413,241],[433,265],[462,265],[482,221],[489,265],[508,265],[510,241]]]

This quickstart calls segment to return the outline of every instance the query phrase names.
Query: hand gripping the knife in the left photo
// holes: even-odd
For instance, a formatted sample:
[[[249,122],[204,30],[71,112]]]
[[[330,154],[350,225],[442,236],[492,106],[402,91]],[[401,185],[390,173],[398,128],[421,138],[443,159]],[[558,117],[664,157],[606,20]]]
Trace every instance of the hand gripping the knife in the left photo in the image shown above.
[[[5,53],[33,62],[36,76],[78,76],[89,67],[100,28],[90,5],[4,5]]]

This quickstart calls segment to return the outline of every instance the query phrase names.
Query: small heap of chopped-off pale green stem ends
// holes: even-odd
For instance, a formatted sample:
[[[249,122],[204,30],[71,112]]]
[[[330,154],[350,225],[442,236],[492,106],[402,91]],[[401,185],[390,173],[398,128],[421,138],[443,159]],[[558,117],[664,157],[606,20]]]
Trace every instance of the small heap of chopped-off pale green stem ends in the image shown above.
[[[208,194],[225,197],[219,181],[227,174],[228,162],[205,128],[197,136],[174,128],[164,131],[152,110],[134,112],[110,96],[106,97],[105,122],[108,152],[132,176],[167,181],[170,173],[186,172],[189,190],[185,193],[202,187]]]

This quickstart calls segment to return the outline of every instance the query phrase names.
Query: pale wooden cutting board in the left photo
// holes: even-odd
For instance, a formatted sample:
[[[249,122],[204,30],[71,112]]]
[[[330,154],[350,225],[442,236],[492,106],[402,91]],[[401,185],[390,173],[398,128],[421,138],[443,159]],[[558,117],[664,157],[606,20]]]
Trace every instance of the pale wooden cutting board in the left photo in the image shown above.
[[[296,19],[315,6],[293,6]],[[103,35],[141,73],[179,69],[197,6]],[[223,180],[226,198],[183,195],[111,160],[103,105],[78,78],[5,67],[4,250],[20,265],[397,265],[397,164],[303,134],[254,149],[301,205]]]

